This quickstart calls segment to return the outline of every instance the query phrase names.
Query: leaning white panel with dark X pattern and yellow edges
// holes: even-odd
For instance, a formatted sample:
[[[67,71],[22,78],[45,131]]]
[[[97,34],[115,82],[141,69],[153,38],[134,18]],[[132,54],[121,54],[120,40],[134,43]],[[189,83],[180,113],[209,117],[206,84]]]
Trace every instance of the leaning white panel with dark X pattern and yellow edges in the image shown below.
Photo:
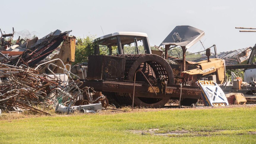
[[[205,106],[227,106],[227,98],[218,86],[213,81],[198,81],[199,87],[202,90],[202,99]]]

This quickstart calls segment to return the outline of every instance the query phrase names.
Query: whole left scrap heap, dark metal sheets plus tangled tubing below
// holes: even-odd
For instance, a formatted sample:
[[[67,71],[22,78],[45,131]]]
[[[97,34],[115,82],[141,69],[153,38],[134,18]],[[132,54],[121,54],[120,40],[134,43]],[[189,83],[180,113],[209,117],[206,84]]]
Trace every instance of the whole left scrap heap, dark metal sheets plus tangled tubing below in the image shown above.
[[[79,81],[80,77],[70,72],[71,66],[68,62],[71,60],[46,58],[50,54],[57,55],[53,51],[64,45],[66,45],[64,49],[71,49],[70,41],[67,40],[75,43],[75,38],[68,37],[70,32],[62,33],[60,30],[56,30],[42,39],[36,37],[19,45],[13,45],[2,39],[1,44],[4,45],[1,45],[3,47],[0,56],[2,58],[0,63],[0,109],[2,111],[30,110],[35,113],[49,114],[35,108],[36,105],[42,105],[43,107],[57,106],[56,111],[69,112],[58,110],[59,105],[64,107],[69,105],[70,107],[74,103],[77,107],[73,106],[72,112],[83,110],[86,113],[99,111],[100,107],[108,106],[108,99],[101,93],[95,92],[93,88],[79,88],[83,82]],[[73,47],[75,48],[75,45]],[[21,54],[18,56],[2,54],[4,52],[12,53],[12,51],[21,52]],[[40,67],[46,67],[48,74],[40,71]],[[61,73],[57,74],[53,67]],[[74,80],[73,77],[77,80]],[[88,106],[90,104],[100,105],[100,107]],[[86,106],[84,107],[84,105]]]

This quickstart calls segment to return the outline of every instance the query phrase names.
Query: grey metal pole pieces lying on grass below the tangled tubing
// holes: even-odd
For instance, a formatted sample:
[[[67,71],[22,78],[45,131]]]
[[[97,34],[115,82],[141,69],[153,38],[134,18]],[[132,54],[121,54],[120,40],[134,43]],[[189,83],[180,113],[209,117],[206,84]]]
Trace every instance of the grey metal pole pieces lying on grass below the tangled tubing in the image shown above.
[[[101,102],[97,103],[97,104],[89,104],[89,105],[79,105],[79,106],[71,106],[70,109],[68,109],[68,107],[65,107],[64,105],[57,105],[55,108],[56,112],[59,113],[73,113],[75,110],[83,110],[86,113],[86,110],[94,110],[96,112],[99,112],[100,110],[102,110],[102,105]],[[82,112],[83,112],[82,111]],[[87,111],[87,112],[91,112],[91,111]]]

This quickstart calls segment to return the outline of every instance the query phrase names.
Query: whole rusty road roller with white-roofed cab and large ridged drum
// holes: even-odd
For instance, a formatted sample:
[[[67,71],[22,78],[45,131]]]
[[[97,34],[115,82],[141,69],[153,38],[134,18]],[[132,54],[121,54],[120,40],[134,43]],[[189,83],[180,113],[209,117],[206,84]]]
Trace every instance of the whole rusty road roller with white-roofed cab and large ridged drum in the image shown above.
[[[175,83],[170,63],[152,54],[147,34],[117,32],[93,42],[94,55],[89,56],[88,67],[82,72],[83,86],[101,91],[110,103],[132,105],[134,91],[134,105],[139,107],[161,108],[180,96],[184,104],[200,99],[198,87]]]

